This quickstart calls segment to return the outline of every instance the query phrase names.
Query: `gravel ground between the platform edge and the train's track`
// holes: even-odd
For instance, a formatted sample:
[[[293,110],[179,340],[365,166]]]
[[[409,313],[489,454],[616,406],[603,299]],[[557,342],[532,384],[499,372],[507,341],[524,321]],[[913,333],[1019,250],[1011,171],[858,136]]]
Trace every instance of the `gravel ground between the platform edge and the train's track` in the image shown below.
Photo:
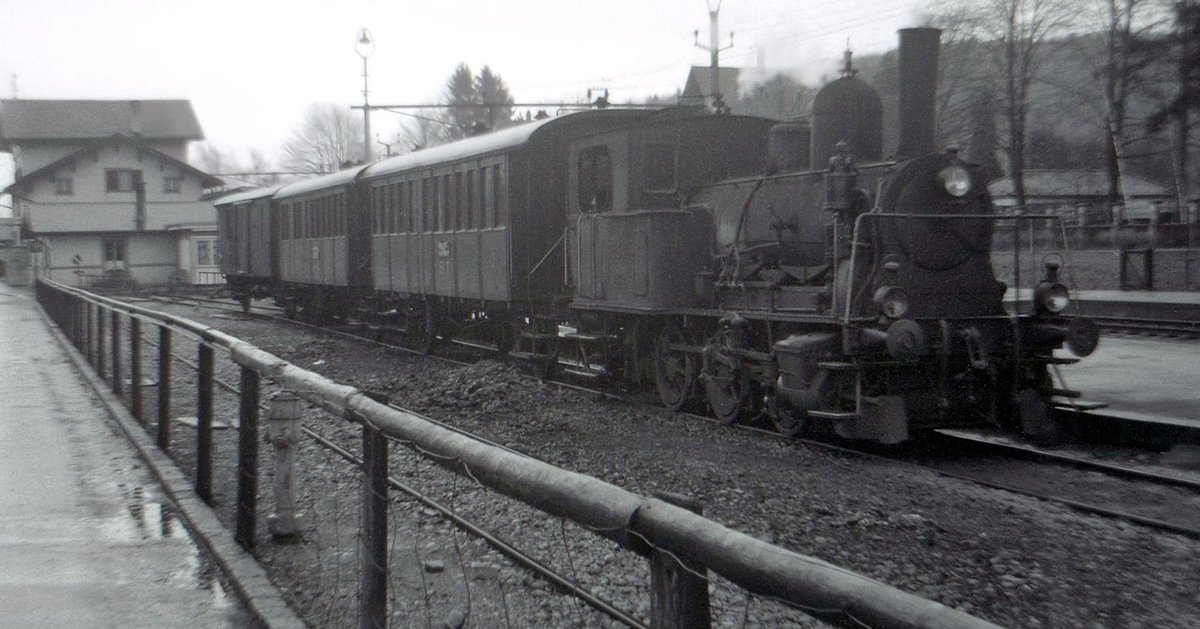
[[[157,307],[157,306],[156,306]],[[319,331],[181,306],[161,310],[246,340],[336,382],[451,423],[559,467],[649,496],[690,496],[727,527],[1006,627],[1195,627],[1200,545],[1122,521],[800,443],[541,383],[493,360],[438,363]],[[179,346],[176,346],[179,351]],[[220,375],[236,382],[222,361]],[[182,371],[182,370],[180,370]],[[187,376],[178,376],[186,378]],[[270,385],[264,388],[269,394]],[[236,400],[218,400],[236,417]],[[186,414],[186,413],[181,413]],[[358,427],[316,409],[305,426],[359,451]],[[218,451],[235,453],[234,431]],[[179,457],[186,459],[186,448]],[[499,498],[392,447],[392,475],[647,619],[646,561],[590,532]],[[271,448],[260,454],[258,556],[314,625],[356,622],[358,471],[306,441],[298,541],[272,540]],[[445,462],[443,462],[445,463]],[[228,467],[228,466],[227,466]],[[186,465],[185,465],[186,468]],[[218,478],[221,475],[218,466]],[[232,480],[228,485],[233,487]],[[233,490],[223,517],[232,514]],[[220,490],[218,490],[220,493]],[[1200,504],[1198,504],[1200,513]],[[606,627],[594,612],[392,492],[390,610],[400,627]],[[228,521],[232,526],[232,520]],[[808,624],[714,580],[714,624]]]

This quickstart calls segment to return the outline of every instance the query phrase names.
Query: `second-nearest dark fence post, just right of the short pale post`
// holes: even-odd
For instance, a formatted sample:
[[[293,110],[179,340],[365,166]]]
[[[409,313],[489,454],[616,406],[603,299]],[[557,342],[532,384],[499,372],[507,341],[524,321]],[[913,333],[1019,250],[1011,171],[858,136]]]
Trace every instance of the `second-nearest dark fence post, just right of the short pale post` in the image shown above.
[[[388,438],[362,423],[362,553],[359,627],[388,625]]]

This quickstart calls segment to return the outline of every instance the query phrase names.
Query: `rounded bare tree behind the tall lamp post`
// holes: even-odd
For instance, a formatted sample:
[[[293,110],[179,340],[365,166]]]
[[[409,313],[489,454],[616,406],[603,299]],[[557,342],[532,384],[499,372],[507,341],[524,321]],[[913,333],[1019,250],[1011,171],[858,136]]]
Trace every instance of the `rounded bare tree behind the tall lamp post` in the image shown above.
[[[313,103],[283,144],[283,167],[294,173],[335,173],[362,155],[362,119],[349,107]]]

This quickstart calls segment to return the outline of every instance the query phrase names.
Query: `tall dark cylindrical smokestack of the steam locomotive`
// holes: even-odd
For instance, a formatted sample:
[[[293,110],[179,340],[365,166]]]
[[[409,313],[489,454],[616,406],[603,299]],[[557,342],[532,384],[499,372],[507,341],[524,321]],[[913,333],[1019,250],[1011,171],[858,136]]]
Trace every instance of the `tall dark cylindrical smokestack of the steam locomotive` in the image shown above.
[[[900,143],[896,157],[934,151],[941,29],[900,29]]]

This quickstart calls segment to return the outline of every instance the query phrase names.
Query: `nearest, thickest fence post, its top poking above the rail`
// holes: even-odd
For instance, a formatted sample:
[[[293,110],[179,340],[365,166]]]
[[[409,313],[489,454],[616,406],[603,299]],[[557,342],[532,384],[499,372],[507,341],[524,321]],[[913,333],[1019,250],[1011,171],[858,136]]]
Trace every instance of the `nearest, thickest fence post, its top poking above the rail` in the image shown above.
[[[654,497],[703,515],[700,502],[688,496],[655,491]],[[708,629],[708,570],[658,549],[650,552],[650,627]]]

